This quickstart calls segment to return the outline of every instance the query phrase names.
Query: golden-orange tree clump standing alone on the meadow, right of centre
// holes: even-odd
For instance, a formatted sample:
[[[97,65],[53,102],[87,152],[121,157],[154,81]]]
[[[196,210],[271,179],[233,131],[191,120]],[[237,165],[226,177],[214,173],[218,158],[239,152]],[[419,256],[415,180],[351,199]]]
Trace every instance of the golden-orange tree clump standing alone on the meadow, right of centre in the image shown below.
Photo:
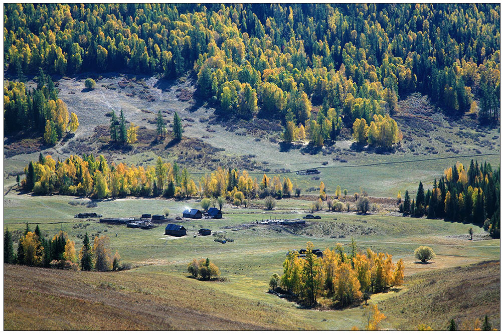
[[[370,249],[364,254],[354,249],[347,255],[337,244],[317,258],[312,249],[308,242],[302,257],[297,251],[289,252],[280,277],[280,286],[297,294],[302,302],[316,303],[317,296],[323,296],[343,307],[362,300],[363,293],[382,292],[403,283],[404,262],[400,259],[394,264],[389,254]],[[306,275],[307,268],[310,275]],[[306,298],[307,287],[310,298]]]

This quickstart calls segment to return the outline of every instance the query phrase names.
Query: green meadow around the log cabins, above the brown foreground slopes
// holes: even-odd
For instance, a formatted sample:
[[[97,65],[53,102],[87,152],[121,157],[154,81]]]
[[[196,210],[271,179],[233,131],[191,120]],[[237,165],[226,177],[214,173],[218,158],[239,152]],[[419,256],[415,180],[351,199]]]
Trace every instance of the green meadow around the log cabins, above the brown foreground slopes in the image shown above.
[[[181,215],[185,207],[197,207],[197,203],[126,198],[102,201],[98,202],[96,208],[86,208],[82,205],[69,204],[75,201],[84,203],[88,200],[70,196],[31,196],[9,193],[4,199],[4,203],[7,203],[4,227],[8,227],[11,231],[22,230],[25,227],[24,222],[29,222],[30,230],[33,230],[35,224],[38,223],[42,233],[47,236],[54,235],[62,228],[72,240],[76,241],[76,249],[80,249],[81,238],[85,232],[93,236],[108,235],[112,252],[117,250],[122,261],[132,262],[137,266],[131,271],[120,273],[122,276],[128,273],[150,277],[150,279],[167,276],[171,280],[183,280],[184,284],[194,286],[194,288],[211,287],[215,294],[233,296],[254,305],[257,303],[258,308],[264,308],[268,310],[267,312],[279,311],[288,314],[303,324],[298,324],[297,328],[344,330],[350,329],[353,325],[361,326],[363,310],[359,307],[337,311],[306,310],[299,308],[293,302],[266,293],[271,275],[282,274],[282,263],[288,250],[304,248],[307,241],[313,242],[314,246],[320,249],[334,247],[337,242],[348,249],[352,235],[332,238],[331,236],[338,234],[338,231],[328,231],[326,236],[309,237],[293,234],[289,229],[278,226],[239,227],[251,221],[261,221],[270,217],[301,218],[302,210],[306,210],[309,203],[307,201],[281,200],[278,201],[278,208],[271,212],[261,209],[233,209],[226,206],[224,219],[221,220],[178,221],[188,230],[187,235],[182,238],[165,236],[163,225],[151,230],[131,229],[120,225],[79,220],[73,218],[73,215],[79,212],[97,212],[104,217],[139,217],[142,213],[163,213],[163,210],[168,208],[171,212],[170,216],[173,217]],[[293,211],[292,208],[297,208],[297,211]],[[331,222],[344,223],[348,226],[372,227],[374,233],[355,236],[358,248],[362,251],[369,247],[373,251],[388,252],[393,255],[395,261],[403,258],[407,277],[415,277],[417,274],[430,272],[433,269],[445,270],[482,260],[499,259],[500,240],[469,241],[450,237],[467,234],[469,226],[472,225],[394,216],[359,216],[328,212],[320,212],[320,214],[322,219],[310,223],[313,224],[310,228],[316,228],[317,224]],[[210,228],[212,231],[222,231],[234,242],[221,244],[215,242],[213,236],[194,238],[193,226],[196,231],[201,227]],[[472,227],[476,234],[482,232],[482,229]],[[415,263],[413,251],[419,245],[429,245],[436,252],[437,258],[431,264]],[[219,266],[221,277],[226,279],[224,282],[204,283],[186,278],[187,263],[193,258],[202,257],[209,257]],[[86,273],[79,275],[86,275]],[[373,295],[371,302],[384,305],[390,298],[404,292],[404,287],[402,287],[397,292]],[[402,322],[405,317],[411,321],[415,319],[414,314],[401,314],[401,318],[390,315],[385,322],[385,327],[413,329],[413,326],[407,326]]]

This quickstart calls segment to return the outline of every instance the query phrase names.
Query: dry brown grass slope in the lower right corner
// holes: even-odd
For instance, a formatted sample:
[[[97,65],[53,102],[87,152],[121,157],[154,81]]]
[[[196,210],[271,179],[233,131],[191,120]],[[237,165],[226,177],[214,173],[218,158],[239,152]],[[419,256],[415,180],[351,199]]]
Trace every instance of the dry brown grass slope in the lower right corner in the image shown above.
[[[379,304],[385,314],[396,317],[398,329],[424,323],[446,330],[451,319],[460,324],[485,315],[493,328],[500,328],[500,261],[412,275],[405,286],[404,294]]]

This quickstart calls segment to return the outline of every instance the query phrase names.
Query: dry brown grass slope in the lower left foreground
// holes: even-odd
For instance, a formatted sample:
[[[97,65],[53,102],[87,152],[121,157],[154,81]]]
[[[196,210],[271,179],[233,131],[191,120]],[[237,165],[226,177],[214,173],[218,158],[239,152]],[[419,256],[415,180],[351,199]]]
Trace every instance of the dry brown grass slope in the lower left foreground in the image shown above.
[[[264,330],[306,325],[219,282],[4,265],[4,330]]]

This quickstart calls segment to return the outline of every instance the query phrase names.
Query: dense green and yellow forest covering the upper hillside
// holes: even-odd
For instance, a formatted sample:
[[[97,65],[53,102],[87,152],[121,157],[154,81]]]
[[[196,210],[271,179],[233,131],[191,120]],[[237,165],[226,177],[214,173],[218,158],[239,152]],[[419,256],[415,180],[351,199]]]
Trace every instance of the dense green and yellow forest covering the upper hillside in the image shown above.
[[[310,142],[321,145],[356,119],[394,117],[398,98],[414,91],[454,114],[499,117],[499,5],[4,9],[4,68],[20,79],[39,68],[59,75],[128,69],[166,78],[195,71],[200,96],[223,115],[281,119],[291,128],[286,140],[306,128]],[[321,105],[317,115],[312,105]],[[394,123],[387,124],[393,132]],[[366,140],[388,146],[382,137]],[[400,133],[392,135],[392,143],[399,140]]]

